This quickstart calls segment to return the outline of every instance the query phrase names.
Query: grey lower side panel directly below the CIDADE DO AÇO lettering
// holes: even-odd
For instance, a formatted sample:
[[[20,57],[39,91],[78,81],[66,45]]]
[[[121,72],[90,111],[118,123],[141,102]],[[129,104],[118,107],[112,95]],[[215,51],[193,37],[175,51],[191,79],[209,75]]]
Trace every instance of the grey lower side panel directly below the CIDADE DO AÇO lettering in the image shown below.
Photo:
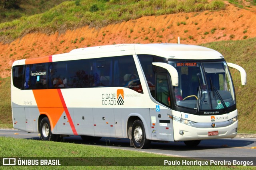
[[[114,108],[93,108],[96,137],[116,137]]]

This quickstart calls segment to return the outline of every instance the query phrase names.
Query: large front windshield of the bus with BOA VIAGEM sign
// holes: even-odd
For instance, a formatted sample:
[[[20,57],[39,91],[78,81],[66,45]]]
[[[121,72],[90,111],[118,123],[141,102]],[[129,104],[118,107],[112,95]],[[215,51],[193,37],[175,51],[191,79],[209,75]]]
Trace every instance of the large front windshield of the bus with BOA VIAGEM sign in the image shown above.
[[[225,61],[168,61],[179,74],[174,88],[176,105],[199,110],[227,109],[235,105],[235,93]]]

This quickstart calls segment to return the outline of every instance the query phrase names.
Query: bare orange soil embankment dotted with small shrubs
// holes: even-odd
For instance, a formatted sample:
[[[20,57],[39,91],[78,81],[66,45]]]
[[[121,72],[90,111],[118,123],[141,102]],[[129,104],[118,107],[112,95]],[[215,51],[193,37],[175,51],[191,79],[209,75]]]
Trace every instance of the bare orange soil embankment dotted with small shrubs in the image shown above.
[[[145,16],[99,29],[89,26],[65,33],[30,33],[10,44],[0,42],[0,77],[10,76],[17,59],[67,53],[75,48],[118,43],[202,44],[256,37],[256,10],[226,3],[226,10]]]

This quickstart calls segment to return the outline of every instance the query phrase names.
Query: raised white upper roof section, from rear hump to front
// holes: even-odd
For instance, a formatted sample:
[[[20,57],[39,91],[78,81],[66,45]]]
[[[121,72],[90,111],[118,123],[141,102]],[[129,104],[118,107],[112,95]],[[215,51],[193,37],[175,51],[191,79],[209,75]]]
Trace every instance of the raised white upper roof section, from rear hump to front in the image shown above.
[[[97,50],[97,51],[96,51]],[[174,59],[221,59],[223,56],[213,49],[185,44],[117,44],[74,49],[70,53],[98,53],[135,50],[136,54],[150,54]]]

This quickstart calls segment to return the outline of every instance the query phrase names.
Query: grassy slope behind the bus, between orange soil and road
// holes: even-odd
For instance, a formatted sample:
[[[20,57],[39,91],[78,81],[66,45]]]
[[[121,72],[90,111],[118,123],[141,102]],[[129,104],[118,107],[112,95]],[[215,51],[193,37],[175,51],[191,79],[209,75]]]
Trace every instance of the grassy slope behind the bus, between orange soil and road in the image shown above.
[[[145,38],[146,39],[146,38]],[[240,73],[230,68],[238,109],[238,133],[256,133],[256,38],[239,41],[219,41],[202,44],[202,46],[215,49],[224,55],[227,62],[238,64],[246,70],[247,84],[241,85]],[[10,97],[10,77],[0,78],[0,127],[12,127],[12,111]]]

